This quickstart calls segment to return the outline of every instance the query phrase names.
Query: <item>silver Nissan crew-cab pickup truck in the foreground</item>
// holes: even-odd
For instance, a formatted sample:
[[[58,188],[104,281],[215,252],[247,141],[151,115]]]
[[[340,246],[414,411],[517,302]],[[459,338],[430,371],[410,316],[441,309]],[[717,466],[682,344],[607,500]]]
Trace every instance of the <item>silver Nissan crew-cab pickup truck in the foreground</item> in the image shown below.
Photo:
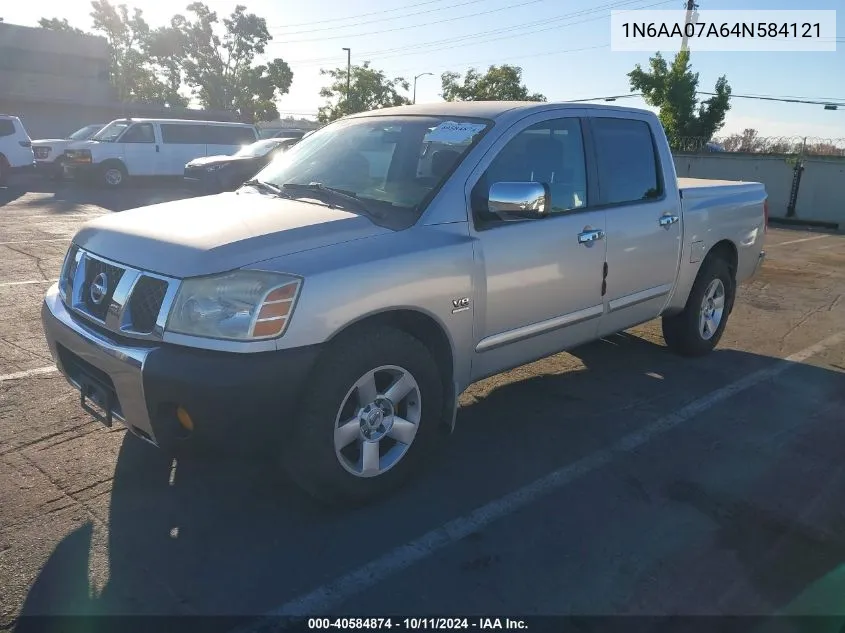
[[[481,378],[657,317],[672,350],[709,352],[767,222],[758,183],[676,178],[650,112],[390,108],[236,192],[87,223],[42,318],[105,424],[168,451],[246,440],[314,496],[364,502]]]

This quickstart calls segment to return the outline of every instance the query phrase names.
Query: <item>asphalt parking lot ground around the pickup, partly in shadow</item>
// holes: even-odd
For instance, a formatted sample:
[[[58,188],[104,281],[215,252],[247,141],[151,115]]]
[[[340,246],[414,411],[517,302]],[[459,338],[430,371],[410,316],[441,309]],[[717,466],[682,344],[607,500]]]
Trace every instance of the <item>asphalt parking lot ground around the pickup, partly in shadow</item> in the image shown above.
[[[770,229],[706,358],[658,322],[487,379],[412,486],[323,509],[267,463],[92,421],[43,292],[173,199],[0,189],[0,628],[37,614],[845,615],[845,236]],[[244,421],[244,432],[248,424]]]

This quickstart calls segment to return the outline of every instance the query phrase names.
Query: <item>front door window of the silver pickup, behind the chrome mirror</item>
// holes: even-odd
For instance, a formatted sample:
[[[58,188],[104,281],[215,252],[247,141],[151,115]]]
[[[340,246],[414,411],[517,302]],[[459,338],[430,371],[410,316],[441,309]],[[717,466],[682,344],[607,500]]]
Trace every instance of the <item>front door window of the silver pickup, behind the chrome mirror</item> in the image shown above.
[[[581,120],[543,121],[526,128],[499,152],[472,192],[472,206],[483,220],[490,186],[496,182],[541,182],[552,195],[552,213],[587,206],[587,169]]]

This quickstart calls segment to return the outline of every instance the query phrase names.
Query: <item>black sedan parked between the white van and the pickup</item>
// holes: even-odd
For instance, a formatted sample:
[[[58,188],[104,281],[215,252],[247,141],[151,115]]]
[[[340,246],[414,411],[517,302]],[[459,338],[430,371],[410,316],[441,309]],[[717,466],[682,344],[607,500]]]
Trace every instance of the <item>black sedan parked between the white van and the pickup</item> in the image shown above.
[[[195,158],[185,165],[185,183],[203,193],[233,191],[296,142],[297,139],[264,139],[231,155]]]

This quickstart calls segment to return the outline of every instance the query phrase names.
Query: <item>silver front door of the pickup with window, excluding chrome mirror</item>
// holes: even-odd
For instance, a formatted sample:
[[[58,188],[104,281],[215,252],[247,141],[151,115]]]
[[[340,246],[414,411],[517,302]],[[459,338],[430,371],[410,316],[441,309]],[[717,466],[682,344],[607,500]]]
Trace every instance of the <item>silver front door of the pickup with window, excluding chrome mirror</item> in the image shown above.
[[[474,172],[481,173],[470,196],[471,230],[486,281],[475,311],[475,379],[596,337],[603,310],[605,212],[593,208],[578,112],[527,117]],[[487,210],[495,182],[547,184],[551,214],[497,219]]]

